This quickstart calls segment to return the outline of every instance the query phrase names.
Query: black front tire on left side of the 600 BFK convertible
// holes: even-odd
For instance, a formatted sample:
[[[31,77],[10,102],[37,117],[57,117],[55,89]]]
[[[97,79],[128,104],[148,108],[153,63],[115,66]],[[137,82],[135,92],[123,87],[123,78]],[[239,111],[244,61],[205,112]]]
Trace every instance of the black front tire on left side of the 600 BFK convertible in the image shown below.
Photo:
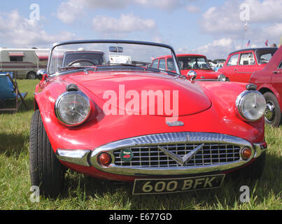
[[[38,186],[41,195],[58,197],[62,193],[64,166],[55,156],[39,110],[31,118],[29,166],[31,186]]]

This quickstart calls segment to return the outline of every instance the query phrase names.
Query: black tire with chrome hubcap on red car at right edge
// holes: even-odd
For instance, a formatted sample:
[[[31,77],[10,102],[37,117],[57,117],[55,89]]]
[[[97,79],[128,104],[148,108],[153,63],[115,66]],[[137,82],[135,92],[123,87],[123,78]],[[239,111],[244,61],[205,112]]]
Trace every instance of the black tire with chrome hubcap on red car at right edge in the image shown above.
[[[267,109],[265,110],[265,123],[272,125],[272,127],[279,127],[281,124],[281,109],[279,102],[272,92],[265,92],[263,94],[267,102]]]

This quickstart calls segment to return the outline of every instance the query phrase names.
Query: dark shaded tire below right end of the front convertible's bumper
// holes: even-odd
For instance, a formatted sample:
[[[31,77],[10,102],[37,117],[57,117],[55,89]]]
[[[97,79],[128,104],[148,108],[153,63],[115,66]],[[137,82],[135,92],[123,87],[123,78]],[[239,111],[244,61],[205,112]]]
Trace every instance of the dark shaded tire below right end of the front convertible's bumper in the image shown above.
[[[260,179],[265,169],[265,157],[266,153],[264,152],[250,165],[233,172],[232,176],[235,179],[248,179],[251,181]]]

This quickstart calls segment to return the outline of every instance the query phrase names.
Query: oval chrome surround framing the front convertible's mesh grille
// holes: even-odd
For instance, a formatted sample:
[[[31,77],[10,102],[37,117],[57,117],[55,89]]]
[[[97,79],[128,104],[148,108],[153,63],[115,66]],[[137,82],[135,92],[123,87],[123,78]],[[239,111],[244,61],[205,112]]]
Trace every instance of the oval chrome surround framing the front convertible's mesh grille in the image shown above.
[[[187,144],[187,143],[218,143],[218,144],[234,144],[236,146],[249,147],[252,150],[251,158],[243,160],[240,158],[235,162],[222,162],[220,165],[203,165],[195,167],[133,167],[115,165],[115,156],[113,151],[122,148],[141,147],[141,146],[158,146],[160,144]],[[108,167],[101,167],[97,162],[97,156],[101,152],[107,152],[112,157],[112,164]],[[111,174],[121,175],[178,175],[178,174],[199,174],[205,172],[220,172],[226,169],[233,169],[249,162],[255,155],[255,147],[239,137],[233,137],[227,134],[206,133],[206,132],[172,132],[162,134],[149,134],[140,137],[132,137],[114,141],[104,146],[99,146],[92,151],[90,163],[93,167]]]

